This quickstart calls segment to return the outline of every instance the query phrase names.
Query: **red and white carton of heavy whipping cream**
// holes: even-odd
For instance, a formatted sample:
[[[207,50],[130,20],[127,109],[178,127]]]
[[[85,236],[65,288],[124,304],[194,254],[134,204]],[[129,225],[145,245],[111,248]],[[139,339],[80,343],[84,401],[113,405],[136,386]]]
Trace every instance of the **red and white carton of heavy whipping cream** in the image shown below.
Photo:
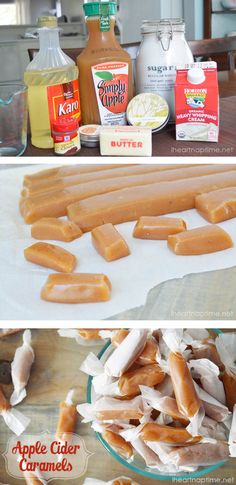
[[[216,62],[177,68],[175,83],[176,140],[217,142],[219,87]]]

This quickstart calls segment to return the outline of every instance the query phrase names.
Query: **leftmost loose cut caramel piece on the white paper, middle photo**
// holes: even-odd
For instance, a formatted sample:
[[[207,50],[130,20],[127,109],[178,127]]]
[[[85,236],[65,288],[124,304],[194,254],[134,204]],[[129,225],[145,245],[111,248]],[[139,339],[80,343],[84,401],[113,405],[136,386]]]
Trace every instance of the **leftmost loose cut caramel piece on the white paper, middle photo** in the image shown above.
[[[54,244],[35,243],[24,250],[24,255],[31,263],[62,273],[71,273],[76,266],[76,257]]]

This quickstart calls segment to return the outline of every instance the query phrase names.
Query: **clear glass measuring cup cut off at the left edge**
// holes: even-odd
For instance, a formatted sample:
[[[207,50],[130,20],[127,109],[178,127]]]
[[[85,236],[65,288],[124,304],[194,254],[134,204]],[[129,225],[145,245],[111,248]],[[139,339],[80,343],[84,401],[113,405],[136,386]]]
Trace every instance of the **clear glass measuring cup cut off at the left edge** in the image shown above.
[[[27,87],[0,84],[0,157],[20,156],[27,144]]]

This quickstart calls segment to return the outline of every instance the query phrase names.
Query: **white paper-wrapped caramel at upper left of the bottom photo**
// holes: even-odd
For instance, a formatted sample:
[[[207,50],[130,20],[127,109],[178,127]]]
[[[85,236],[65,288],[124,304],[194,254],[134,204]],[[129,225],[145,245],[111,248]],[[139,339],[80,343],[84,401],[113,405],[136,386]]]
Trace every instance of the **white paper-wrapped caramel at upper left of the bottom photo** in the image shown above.
[[[11,365],[12,382],[14,391],[11,395],[12,406],[20,403],[26,396],[26,386],[30,377],[31,366],[34,362],[34,351],[31,347],[31,331],[23,333],[23,344],[15,352]]]

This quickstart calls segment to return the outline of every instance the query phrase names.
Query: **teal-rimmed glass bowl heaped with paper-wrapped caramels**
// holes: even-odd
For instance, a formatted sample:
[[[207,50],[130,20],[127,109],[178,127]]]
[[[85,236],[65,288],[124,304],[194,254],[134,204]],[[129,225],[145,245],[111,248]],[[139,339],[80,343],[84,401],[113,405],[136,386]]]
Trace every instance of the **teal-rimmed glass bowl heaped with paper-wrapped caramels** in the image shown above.
[[[88,402],[77,410],[111,456],[156,480],[200,477],[236,456],[236,333],[122,329],[109,337],[81,366]]]

